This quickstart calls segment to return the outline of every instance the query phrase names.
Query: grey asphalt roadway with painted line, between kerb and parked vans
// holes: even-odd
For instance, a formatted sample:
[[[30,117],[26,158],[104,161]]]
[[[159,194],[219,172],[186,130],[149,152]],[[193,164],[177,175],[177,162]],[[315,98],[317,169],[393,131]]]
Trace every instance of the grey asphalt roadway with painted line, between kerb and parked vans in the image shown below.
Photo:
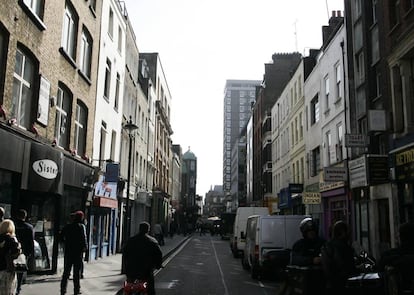
[[[228,240],[195,233],[157,273],[158,295],[278,294],[280,282],[253,280],[232,256]]]

